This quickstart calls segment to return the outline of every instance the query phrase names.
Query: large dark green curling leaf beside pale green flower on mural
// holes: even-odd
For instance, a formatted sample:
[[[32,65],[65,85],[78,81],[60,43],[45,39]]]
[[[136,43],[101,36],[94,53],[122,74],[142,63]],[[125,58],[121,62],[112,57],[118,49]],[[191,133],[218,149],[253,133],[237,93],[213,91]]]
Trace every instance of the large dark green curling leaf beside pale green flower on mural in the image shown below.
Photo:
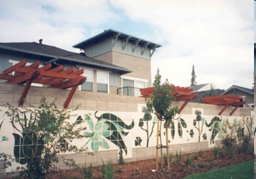
[[[127,147],[122,139],[122,137],[128,135],[129,132],[125,132],[124,129],[132,129],[134,127],[134,120],[132,120],[132,123],[130,125],[126,125],[122,119],[117,117],[116,115],[113,115],[112,113],[103,113],[99,117],[96,116],[96,111],[94,113],[94,116],[99,121],[102,121],[102,123],[105,123],[103,133],[110,132],[110,135],[106,136],[105,138],[114,143],[114,145],[118,146],[120,149],[120,154],[122,154],[123,150],[127,154]],[[98,123],[97,122],[97,123]],[[107,126],[108,125],[108,126]]]

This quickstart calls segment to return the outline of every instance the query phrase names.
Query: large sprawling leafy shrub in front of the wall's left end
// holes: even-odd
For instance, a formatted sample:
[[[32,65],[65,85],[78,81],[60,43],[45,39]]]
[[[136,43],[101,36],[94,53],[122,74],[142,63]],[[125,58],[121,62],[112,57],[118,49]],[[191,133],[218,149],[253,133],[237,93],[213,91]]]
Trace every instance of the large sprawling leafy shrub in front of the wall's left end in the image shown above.
[[[49,105],[45,100],[41,99],[41,105],[34,109],[5,105],[5,115],[10,118],[15,129],[13,162],[23,164],[16,170],[25,178],[45,178],[50,172],[55,172],[55,164],[60,160],[57,154],[87,150],[72,145],[74,139],[85,137],[81,134],[86,129],[82,127],[82,117],[71,122],[71,110],[58,109],[56,99]],[[7,155],[1,153],[1,157],[6,159]],[[74,161],[67,158],[63,158],[63,162],[66,166],[74,164]],[[11,166],[11,162],[5,164],[8,165]]]

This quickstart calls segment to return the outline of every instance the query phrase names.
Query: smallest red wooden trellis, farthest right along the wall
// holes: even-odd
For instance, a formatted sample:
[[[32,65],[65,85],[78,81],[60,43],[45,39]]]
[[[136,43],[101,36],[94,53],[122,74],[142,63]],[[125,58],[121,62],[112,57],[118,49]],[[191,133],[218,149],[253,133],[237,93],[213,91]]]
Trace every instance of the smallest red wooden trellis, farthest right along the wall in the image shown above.
[[[235,95],[217,95],[217,96],[209,96],[209,97],[202,97],[203,101],[207,104],[213,104],[213,105],[225,105],[223,109],[219,112],[219,115],[227,109],[229,106],[235,107],[229,115],[232,115],[235,110],[239,107],[239,105],[243,105],[246,103],[246,101],[241,101],[243,97],[235,96]]]

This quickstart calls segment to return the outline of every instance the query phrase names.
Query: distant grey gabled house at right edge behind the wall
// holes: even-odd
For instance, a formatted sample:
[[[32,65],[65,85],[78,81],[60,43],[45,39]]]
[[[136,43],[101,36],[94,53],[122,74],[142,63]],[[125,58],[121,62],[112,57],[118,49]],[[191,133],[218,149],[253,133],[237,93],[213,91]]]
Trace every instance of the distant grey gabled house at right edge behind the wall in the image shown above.
[[[243,101],[246,101],[243,107],[254,107],[254,90],[253,89],[233,85],[229,89],[221,93],[221,95],[241,96],[243,97]]]

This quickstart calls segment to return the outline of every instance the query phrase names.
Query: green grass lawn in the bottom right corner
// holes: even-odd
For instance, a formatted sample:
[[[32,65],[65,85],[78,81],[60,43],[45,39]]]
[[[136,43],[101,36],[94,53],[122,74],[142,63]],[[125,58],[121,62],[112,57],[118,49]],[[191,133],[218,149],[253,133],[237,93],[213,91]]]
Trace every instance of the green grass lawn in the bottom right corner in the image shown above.
[[[235,164],[233,166],[227,166],[225,168],[219,168],[217,170],[211,170],[209,172],[193,174],[192,176],[186,177],[186,179],[243,179],[243,178],[254,178],[254,161],[250,160],[241,164]],[[185,179],[185,178],[184,178]]]

